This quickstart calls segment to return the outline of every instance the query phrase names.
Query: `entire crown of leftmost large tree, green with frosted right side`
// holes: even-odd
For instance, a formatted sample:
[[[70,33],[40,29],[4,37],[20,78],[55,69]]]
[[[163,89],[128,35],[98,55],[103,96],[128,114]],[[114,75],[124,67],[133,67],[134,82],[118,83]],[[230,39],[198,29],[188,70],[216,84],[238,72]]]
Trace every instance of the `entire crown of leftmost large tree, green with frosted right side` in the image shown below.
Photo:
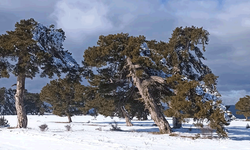
[[[63,50],[62,45],[53,41],[59,34],[61,39],[57,40],[64,41],[64,31],[54,29],[51,25],[43,27],[46,31],[40,34],[38,32],[42,29],[38,28],[38,23],[33,18],[20,20],[15,24],[14,31],[6,31],[6,34],[0,35],[0,77],[9,77],[12,72],[15,76],[24,74],[26,78],[33,78],[39,73],[39,69],[42,71],[41,77],[50,78],[54,74],[60,76],[61,72],[76,73],[76,68],[72,70],[55,63],[56,58],[66,64],[63,56],[71,55],[67,50]],[[54,33],[51,34],[52,32]],[[37,41],[34,40],[34,34]],[[10,59],[12,61],[9,61]]]

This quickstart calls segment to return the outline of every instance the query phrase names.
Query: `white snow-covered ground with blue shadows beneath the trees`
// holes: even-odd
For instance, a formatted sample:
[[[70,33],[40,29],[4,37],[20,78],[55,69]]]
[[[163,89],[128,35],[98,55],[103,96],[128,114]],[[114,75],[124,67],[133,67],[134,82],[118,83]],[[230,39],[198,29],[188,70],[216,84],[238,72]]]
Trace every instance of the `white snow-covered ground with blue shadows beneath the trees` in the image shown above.
[[[16,125],[16,116],[5,116],[10,126]],[[185,123],[174,135],[152,134],[158,128],[152,120],[132,120],[134,126],[127,127],[124,119],[98,116],[74,116],[67,131],[66,117],[55,115],[28,115],[27,129],[0,128],[0,150],[250,150],[250,128],[246,129],[244,120],[232,121],[227,127],[228,139],[192,139],[201,131],[192,126],[192,121]],[[167,118],[172,125],[172,119]],[[110,131],[110,123],[118,123],[122,131]],[[42,132],[39,126],[48,125]],[[190,130],[190,126],[192,129]],[[213,133],[216,136],[215,133]],[[201,133],[201,137],[203,137]]]

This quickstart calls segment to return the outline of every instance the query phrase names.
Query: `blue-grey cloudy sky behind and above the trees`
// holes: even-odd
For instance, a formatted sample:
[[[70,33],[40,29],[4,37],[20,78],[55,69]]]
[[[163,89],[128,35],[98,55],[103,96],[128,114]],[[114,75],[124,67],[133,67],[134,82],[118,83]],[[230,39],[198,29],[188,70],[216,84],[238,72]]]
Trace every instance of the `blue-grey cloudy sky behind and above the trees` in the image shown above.
[[[54,24],[66,32],[64,47],[80,63],[99,35],[124,32],[168,42],[176,27],[203,27],[210,33],[204,62],[219,76],[223,103],[235,104],[250,95],[249,8],[249,0],[0,0],[0,34],[21,19]],[[0,87],[15,82],[0,79]],[[26,88],[40,92],[48,82],[27,79]]]

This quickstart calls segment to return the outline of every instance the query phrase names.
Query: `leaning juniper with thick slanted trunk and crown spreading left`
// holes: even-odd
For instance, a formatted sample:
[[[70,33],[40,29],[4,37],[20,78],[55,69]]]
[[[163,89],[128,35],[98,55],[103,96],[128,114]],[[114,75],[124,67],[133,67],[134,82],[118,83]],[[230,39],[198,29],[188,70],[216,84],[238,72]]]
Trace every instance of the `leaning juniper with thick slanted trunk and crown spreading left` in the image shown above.
[[[159,89],[162,89],[162,94],[168,93],[170,90],[161,86],[164,82],[162,77],[151,73],[153,69],[160,70],[159,67],[154,65],[151,58],[140,55],[141,45],[144,42],[144,36],[133,37],[123,33],[100,36],[97,42],[98,46],[85,50],[84,64],[96,67],[97,72],[109,68],[114,69],[111,76],[101,81],[106,85],[114,85],[116,90],[112,92],[122,92],[123,94],[120,95],[122,99],[126,99],[127,95],[130,94],[128,90],[135,86],[138,89],[140,99],[158,125],[160,132],[170,133],[171,129],[162,113],[159,96],[152,95],[153,92],[157,93]],[[154,56],[153,58],[159,59],[157,55]],[[119,83],[121,84],[119,85]],[[159,87],[159,89],[153,88],[153,86]],[[107,95],[109,96],[109,93]],[[110,96],[113,95],[110,94]],[[105,99],[106,97],[101,95],[101,98]]]

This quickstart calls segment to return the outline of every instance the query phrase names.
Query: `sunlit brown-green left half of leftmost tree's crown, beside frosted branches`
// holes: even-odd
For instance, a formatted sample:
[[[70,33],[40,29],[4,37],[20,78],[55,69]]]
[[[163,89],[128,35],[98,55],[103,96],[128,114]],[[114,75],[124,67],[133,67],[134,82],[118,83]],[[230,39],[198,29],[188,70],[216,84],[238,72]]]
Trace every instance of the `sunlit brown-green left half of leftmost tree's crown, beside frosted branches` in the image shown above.
[[[5,66],[2,74],[9,76],[9,71],[14,75],[26,74],[27,77],[34,77],[39,69],[34,64],[39,64],[39,59],[34,59],[34,52],[39,51],[36,41],[32,39],[32,29],[37,24],[34,19],[21,20],[15,24],[15,31],[6,31],[7,34],[0,36],[0,47],[3,50],[0,57],[5,59]],[[35,53],[35,56],[37,54]],[[8,65],[7,59],[18,60],[15,65]]]

